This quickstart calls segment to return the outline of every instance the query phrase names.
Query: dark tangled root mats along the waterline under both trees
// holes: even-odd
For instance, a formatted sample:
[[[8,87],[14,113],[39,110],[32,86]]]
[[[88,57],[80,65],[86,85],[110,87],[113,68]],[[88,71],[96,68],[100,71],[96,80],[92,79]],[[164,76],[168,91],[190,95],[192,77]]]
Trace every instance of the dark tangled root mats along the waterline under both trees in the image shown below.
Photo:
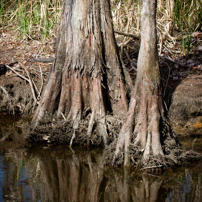
[[[124,163],[124,151],[121,151],[116,159],[114,160],[114,153],[117,146],[118,134],[121,128],[121,120],[114,117],[107,116],[107,124],[109,130],[109,146],[105,147],[104,141],[99,136],[96,130],[93,131],[92,135],[88,137],[87,127],[88,120],[81,122],[79,129],[74,131],[71,127],[72,123],[64,120],[48,120],[39,124],[35,130],[31,131],[29,135],[29,141],[31,145],[38,143],[45,143],[48,145],[64,144],[71,146],[83,145],[87,148],[102,147],[104,149],[105,164],[112,165],[113,167],[121,167]],[[96,128],[96,127],[95,127]],[[48,132],[47,132],[48,131]],[[135,168],[145,169],[147,171],[153,171],[156,169],[164,170],[168,168],[187,166],[190,162],[199,161],[201,155],[196,153],[193,148],[189,151],[185,150],[174,134],[168,134],[167,128],[163,129],[163,136],[161,143],[163,145],[163,157],[154,157],[150,155],[147,162],[142,161],[144,150],[140,145],[134,145],[135,139],[130,144],[130,165]],[[29,133],[30,134],[30,133]],[[73,135],[75,137],[73,138]],[[186,141],[185,141],[186,142]]]

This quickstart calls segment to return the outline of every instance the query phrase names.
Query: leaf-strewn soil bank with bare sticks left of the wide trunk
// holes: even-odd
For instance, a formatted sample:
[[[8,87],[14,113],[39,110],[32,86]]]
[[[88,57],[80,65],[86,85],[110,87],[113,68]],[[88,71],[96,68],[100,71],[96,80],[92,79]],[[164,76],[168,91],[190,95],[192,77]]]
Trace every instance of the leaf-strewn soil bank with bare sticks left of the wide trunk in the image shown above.
[[[0,111],[33,114],[48,75],[50,63],[32,60],[54,55],[53,42],[19,39],[9,30],[0,32]]]

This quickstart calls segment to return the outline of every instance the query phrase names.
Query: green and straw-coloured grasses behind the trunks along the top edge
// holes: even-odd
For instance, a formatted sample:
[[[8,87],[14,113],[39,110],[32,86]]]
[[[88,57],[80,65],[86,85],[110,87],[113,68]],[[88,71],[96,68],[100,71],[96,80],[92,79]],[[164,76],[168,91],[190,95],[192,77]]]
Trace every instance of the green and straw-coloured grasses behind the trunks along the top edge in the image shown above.
[[[111,0],[115,30],[140,33],[141,2]],[[44,40],[57,35],[61,10],[62,0],[1,0],[0,26],[12,27],[21,38]],[[181,51],[189,54],[191,33],[202,31],[202,1],[158,0],[157,28],[159,39],[181,34]]]

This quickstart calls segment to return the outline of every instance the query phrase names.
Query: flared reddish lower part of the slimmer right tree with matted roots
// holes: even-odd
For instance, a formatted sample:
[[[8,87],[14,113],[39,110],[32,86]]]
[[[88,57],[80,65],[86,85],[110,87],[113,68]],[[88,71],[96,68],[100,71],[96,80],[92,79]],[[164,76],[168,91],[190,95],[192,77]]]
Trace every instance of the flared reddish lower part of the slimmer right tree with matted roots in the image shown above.
[[[199,154],[180,148],[163,115],[158,88],[150,91],[144,87],[132,97],[118,139],[107,148],[106,162],[114,166],[165,168],[200,159]]]

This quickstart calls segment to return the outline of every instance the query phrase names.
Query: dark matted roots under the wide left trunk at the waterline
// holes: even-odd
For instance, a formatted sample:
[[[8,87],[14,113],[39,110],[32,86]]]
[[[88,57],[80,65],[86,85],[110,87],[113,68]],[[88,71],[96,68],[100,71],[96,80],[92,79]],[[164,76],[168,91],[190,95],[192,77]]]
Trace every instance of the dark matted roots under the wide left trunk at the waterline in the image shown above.
[[[69,146],[96,146],[103,147],[105,145],[103,137],[99,133],[96,123],[93,126],[90,135],[87,135],[89,121],[91,115],[86,116],[79,122],[78,128],[73,128],[73,122],[64,119],[50,119],[44,117],[37,127],[28,132],[28,140],[32,143],[45,144],[65,144]],[[121,118],[106,115],[106,128],[108,129],[108,141],[113,142],[117,138],[117,134],[121,128]]]

